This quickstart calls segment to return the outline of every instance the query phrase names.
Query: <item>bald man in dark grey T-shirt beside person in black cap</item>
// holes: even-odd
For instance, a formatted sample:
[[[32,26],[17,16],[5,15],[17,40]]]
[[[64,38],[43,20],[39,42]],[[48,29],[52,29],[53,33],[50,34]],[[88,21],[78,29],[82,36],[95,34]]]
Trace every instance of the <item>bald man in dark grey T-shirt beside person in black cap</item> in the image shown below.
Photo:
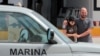
[[[77,25],[77,37],[78,42],[92,42],[92,38],[90,36],[91,28],[92,28],[92,19],[87,18],[87,9],[82,7],[80,10],[80,18],[76,20]]]

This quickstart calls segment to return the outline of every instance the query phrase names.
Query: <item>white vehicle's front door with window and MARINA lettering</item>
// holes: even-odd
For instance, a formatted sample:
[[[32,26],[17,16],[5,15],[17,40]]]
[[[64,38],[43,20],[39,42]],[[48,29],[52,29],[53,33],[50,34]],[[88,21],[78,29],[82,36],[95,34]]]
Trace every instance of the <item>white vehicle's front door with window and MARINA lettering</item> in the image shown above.
[[[1,12],[5,17],[6,33],[0,38],[2,56],[72,56],[67,44],[47,44],[47,31],[31,17],[22,13]],[[0,18],[1,19],[1,18]],[[1,30],[0,30],[1,32]],[[7,34],[6,37],[5,34]],[[57,36],[54,36],[55,38]]]

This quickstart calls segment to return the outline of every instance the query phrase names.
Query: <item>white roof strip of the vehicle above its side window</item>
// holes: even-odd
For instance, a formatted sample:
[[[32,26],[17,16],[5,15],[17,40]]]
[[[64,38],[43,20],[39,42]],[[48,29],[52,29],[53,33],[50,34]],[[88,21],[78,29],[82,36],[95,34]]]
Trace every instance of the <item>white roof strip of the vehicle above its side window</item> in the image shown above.
[[[0,5],[0,11],[11,11],[11,12],[32,12],[32,10],[25,7]]]

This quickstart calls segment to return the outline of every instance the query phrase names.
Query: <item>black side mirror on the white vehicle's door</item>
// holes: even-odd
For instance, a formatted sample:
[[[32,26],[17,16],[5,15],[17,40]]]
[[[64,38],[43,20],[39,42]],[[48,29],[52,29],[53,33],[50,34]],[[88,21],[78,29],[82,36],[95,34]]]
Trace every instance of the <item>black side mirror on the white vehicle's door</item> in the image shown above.
[[[54,32],[51,31],[51,29],[47,30],[47,40],[48,44],[57,44],[57,42],[54,39]]]

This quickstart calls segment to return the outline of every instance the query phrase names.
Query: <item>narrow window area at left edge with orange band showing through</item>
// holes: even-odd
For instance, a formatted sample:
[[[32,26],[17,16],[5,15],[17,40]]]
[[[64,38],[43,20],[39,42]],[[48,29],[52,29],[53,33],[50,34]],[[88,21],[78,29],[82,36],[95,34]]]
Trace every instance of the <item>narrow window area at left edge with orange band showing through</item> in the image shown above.
[[[4,13],[0,13],[0,41],[8,39],[7,17]]]

